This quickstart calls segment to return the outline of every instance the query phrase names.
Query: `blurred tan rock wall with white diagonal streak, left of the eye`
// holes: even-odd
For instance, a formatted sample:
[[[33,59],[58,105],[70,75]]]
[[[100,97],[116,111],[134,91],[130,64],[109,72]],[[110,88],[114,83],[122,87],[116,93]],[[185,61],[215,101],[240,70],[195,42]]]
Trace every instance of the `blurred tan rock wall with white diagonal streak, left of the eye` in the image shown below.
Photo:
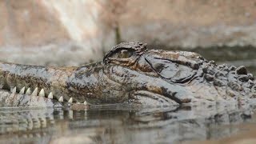
[[[78,65],[102,58],[114,46],[104,37],[98,2],[0,1],[0,59],[34,65]],[[111,43],[112,42],[112,43]]]

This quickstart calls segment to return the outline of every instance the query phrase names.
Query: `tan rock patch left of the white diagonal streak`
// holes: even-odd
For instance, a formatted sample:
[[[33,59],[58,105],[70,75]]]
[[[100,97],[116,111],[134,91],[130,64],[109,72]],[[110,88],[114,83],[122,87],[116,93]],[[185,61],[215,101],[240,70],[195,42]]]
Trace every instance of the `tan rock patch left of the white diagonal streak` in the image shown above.
[[[42,6],[42,1],[1,1],[0,34],[3,45],[37,46],[66,41],[69,35],[58,21]]]

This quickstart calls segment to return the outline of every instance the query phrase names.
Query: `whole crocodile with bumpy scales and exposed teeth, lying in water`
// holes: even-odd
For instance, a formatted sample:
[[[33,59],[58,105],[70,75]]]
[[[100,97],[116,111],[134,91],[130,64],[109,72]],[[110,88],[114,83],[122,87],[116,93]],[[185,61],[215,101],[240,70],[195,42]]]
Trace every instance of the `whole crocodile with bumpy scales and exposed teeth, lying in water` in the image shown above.
[[[200,54],[150,50],[122,42],[99,62],[82,66],[29,66],[0,62],[3,106],[128,103],[174,106],[250,102],[256,82],[245,66],[217,65]]]

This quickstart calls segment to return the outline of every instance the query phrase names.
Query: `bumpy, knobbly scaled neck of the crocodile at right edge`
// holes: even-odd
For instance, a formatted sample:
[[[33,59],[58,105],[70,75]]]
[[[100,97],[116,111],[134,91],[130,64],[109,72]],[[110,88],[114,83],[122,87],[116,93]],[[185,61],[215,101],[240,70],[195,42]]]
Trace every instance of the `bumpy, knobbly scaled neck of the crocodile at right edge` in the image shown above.
[[[254,83],[254,76],[247,74],[244,66],[216,65],[210,61],[200,66],[198,73],[186,86],[199,101],[245,101],[254,97]]]

